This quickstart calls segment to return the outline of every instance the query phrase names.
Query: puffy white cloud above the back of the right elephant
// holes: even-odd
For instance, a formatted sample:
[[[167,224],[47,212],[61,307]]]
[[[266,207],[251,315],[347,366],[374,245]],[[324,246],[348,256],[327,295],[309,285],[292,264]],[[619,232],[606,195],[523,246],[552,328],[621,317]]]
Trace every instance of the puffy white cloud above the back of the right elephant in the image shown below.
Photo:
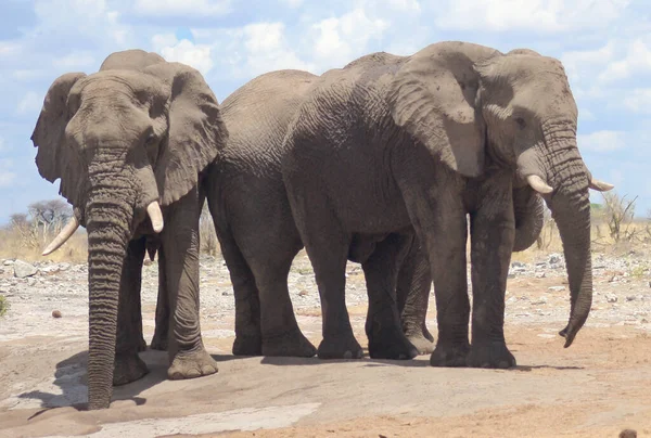
[[[386,21],[369,17],[361,8],[323,20],[311,26],[315,57],[320,59],[323,69],[343,67],[365,54],[368,42],[380,38],[387,27]]]

